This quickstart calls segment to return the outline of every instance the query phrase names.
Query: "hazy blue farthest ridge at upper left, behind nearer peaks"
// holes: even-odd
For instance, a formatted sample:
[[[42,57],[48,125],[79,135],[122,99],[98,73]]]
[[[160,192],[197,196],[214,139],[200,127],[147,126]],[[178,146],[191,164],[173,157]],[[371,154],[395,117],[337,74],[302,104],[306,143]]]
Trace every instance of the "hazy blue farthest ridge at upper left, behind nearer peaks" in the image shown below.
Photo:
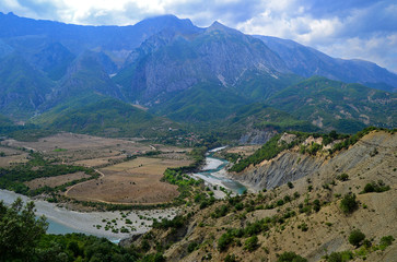
[[[129,26],[83,26],[0,12],[0,38],[26,57],[34,57],[48,43],[59,43],[75,56],[94,49],[108,52],[121,66],[129,52],[162,29],[197,27],[174,15],[151,17]]]

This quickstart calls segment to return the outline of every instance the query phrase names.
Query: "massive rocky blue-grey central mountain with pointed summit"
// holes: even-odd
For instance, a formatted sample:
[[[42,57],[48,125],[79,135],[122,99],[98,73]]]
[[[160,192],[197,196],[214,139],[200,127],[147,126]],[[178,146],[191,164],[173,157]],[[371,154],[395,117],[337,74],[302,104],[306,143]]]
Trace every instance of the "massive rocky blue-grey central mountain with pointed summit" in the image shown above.
[[[129,99],[147,104],[206,81],[233,87],[246,71],[275,79],[288,72],[284,62],[260,40],[218,22],[196,34],[167,31],[155,35],[135,57],[115,81]]]

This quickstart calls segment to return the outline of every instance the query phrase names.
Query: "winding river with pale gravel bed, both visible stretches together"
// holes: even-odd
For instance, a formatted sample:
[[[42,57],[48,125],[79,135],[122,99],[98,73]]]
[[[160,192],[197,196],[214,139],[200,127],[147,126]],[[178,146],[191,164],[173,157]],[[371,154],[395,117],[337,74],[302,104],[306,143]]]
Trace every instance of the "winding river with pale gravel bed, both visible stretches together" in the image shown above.
[[[224,147],[218,147],[207,153],[206,165],[200,172],[192,174],[194,177],[203,179],[207,184],[217,186],[215,196],[224,196],[224,193],[220,190],[220,187],[225,188],[233,193],[243,193],[246,188],[230,178],[226,177],[225,166],[227,160],[213,157],[213,154]],[[25,195],[17,194],[8,190],[0,190],[0,200],[10,205],[12,202],[21,198],[24,202],[32,201]],[[135,231],[131,234],[113,234],[109,230],[104,229],[104,222],[118,219],[122,221],[120,212],[75,212],[63,207],[59,207],[54,203],[49,203],[43,200],[34,200],[36,207],[36,215],[45,215],[48,222],[49,234],[68,234],[68,233],[84,233],[86,235],[94,235],[97,237],[106,237],[107,239],[117,242],[119,239],[126,238],[131,234],[141,234],[150,229],[151,221],[148,217],[161,219],[167,217],[168,219],[174,217],[178,211],[177,209],[166,210],[153,210],[153,211],[131,211],[125,218],[129,218],[132,222]],[[126,212],[125,212],[126,213]],[[143,218],[142,218],[143,216]],[[96,225],[102,225],[101,229],[96,228]]]

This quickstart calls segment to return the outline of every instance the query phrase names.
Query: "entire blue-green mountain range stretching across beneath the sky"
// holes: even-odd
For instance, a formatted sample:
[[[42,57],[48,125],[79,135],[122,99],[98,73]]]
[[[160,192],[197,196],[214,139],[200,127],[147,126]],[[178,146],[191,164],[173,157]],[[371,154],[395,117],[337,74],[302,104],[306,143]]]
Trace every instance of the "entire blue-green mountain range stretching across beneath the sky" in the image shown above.
[[[81,26],[0,13],[0,114],[15,121],[47,112],[65,118],[54,115],[58,106],[100,96],[233,138],[395,124],[397,76],[386,69],[218,22],[199,28],[164,15],[131,26]],[[315,74],[342,82],[306,79]]]

